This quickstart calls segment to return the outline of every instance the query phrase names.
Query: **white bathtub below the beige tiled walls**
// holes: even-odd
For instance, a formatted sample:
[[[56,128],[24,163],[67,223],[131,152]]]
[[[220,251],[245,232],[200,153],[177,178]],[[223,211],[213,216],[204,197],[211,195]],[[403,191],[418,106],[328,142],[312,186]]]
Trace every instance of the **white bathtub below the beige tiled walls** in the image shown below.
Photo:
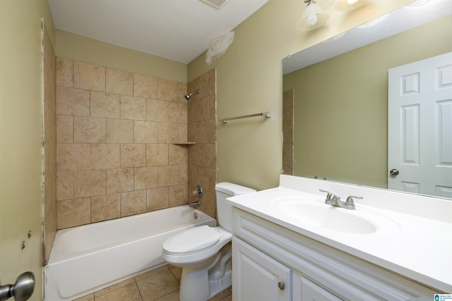
[[[216,220],[188,205],[57,231],[44,266],[44,299],[73,300],[165,265],[163,242]]]

